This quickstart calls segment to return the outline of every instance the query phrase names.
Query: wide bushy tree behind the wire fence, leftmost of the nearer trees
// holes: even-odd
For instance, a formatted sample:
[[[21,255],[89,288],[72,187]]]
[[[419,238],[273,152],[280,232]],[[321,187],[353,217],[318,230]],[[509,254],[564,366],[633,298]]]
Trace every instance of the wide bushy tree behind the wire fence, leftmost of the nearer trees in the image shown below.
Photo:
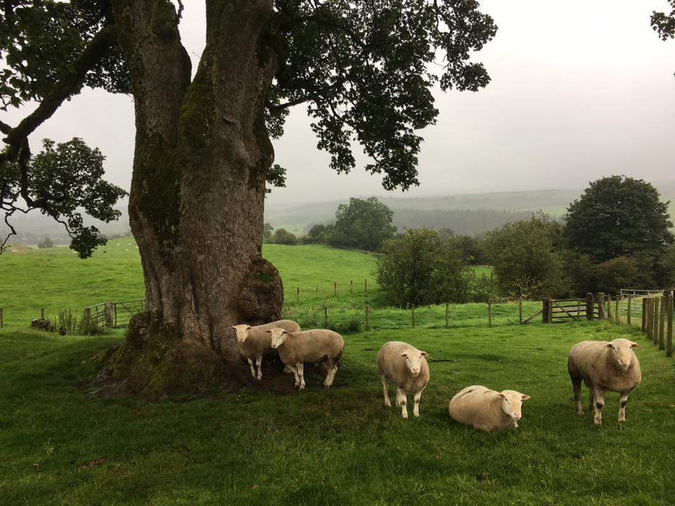
[[[377,278],[397,306],[465,302],[470,285],[461,256],[427,228],[387,240],[378,257]]]

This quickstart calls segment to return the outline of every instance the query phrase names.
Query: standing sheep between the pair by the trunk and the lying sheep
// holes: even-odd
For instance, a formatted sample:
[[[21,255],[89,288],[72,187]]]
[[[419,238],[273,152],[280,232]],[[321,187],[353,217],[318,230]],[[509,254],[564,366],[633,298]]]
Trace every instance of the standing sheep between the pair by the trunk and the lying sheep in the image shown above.
[[[385,343],[378,353],[378,374],[382,380],[385,406],[392,406],[387,384],[387,380],[390,380],[396,385],[396,405],[401,406],[404,418],[408,417],[406,392],[409,391],[415,393],[413,415],[420,415],[420,397],[429,382],[429,365],[425,356],[425,351],[400,341]]]

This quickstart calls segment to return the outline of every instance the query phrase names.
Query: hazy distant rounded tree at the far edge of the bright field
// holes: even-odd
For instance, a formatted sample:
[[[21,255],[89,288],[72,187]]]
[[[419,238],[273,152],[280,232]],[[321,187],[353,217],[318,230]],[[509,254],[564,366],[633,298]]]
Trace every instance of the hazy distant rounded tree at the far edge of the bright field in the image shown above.
[[[396,233],[393,217],[394,212],[376,197],[350,198],[349,205],[338,205],[328,242],[337,247],[379,251],[382,243]]]

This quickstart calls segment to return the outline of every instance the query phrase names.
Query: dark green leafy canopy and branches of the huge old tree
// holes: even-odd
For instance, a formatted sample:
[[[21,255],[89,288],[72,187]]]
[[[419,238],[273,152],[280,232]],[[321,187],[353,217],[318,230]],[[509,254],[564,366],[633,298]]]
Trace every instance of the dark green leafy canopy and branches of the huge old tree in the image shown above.
[[[132,8],[150,20],[147,37],[139,39],[139,44],[177,44],[172,56],[176,65],[165,67],[177,76],[169,80],[179,82],[177,97],[186,105],[176,107],[176,114],[203,111],[187,106],[194,98],[193,89],[203,83],[189,84],[189,59],[179,37],[183,4],[178,4],[176,12],[170,0],[0,2],[0,109],[36,105],[16,126],[0,122],[5,143],[0,153],[4,181],[0,196],[6,221],[20,212],[15,198],[20,195],[29,208],[68,223],[73,247],[82,256],[91,252],[94,232],[82,226],[81,216],[63,207],[65,190],[59,193],[56,188],[46,191],[39,186],[39,174],[34,171],[44,164],[32,161],[28,138],[84,86],[111,93],[131,93],[132,88],[134,93],[143,91],[140,85],[131,85],[131,75],[140,72],[141,60],[127,60],[133,62],[127,65],[121,50],[126,48],[129,53],[136,47],[131,41],[136,37],[131,37],[134,30],[127,26]],[[216,25],[226,5],[245,15],[233,2],[207,1],[207,25]],[[266,99],[260,118],[266,134],[281,136],[288,110],[304,104],[319,148],[331,155],[331,167],[338,172],[352,170],[356,164],[352,143],[358,141],[372,159],[366,170],[383,174],[388,190],[418,184],[422,138],[416,131],[433,124],[438,115],[432,89],[477,91],[489,83],[483,65],[471,62],[470,56],[494,37],[496,26],[489,15],[480,13],[476,0],[269,0],[267,7],[271,15],[257,42],[261,68],[274,62],[274,76],[264,84]],[[210,33],[207,39],[213,47],[207,44],[198,77],[217,71],[214,67],[202,72],[206,70],[202,67],[212,60],[210,51],[217,46],[213,37],[226,34]],[[203,118],[198,120],[203,123]],[[184,124],[191,121],[188,118]],[[46,147],[45,156],[52,162],[52,155],[61,154],[58,146],[56,150],[53,145]],[[83,147],[70,145],[69,149]],[[261,167],[268,183],[283,185],[281,167]],[[108,198],[121,190],[108,185],[108,193],[98,200],[75,197],[75,188],[82,182],[75,176],[61,176],[61,183],[72,189],[69,202],[86,200],[82,205],[86,212],[110,216],[111,208],[105,207]],[[103,181],[98,186],[102,190]]]

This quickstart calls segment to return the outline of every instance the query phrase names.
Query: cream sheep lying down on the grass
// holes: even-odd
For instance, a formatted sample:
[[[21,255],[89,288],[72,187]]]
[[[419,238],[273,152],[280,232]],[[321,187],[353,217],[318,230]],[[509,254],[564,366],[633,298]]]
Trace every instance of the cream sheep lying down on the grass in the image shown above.
[[[528,395],[515,390],[490,390],[481,385],[466,387],[450,401],[450,417],[484,431],[518,427],[522,401]]]

